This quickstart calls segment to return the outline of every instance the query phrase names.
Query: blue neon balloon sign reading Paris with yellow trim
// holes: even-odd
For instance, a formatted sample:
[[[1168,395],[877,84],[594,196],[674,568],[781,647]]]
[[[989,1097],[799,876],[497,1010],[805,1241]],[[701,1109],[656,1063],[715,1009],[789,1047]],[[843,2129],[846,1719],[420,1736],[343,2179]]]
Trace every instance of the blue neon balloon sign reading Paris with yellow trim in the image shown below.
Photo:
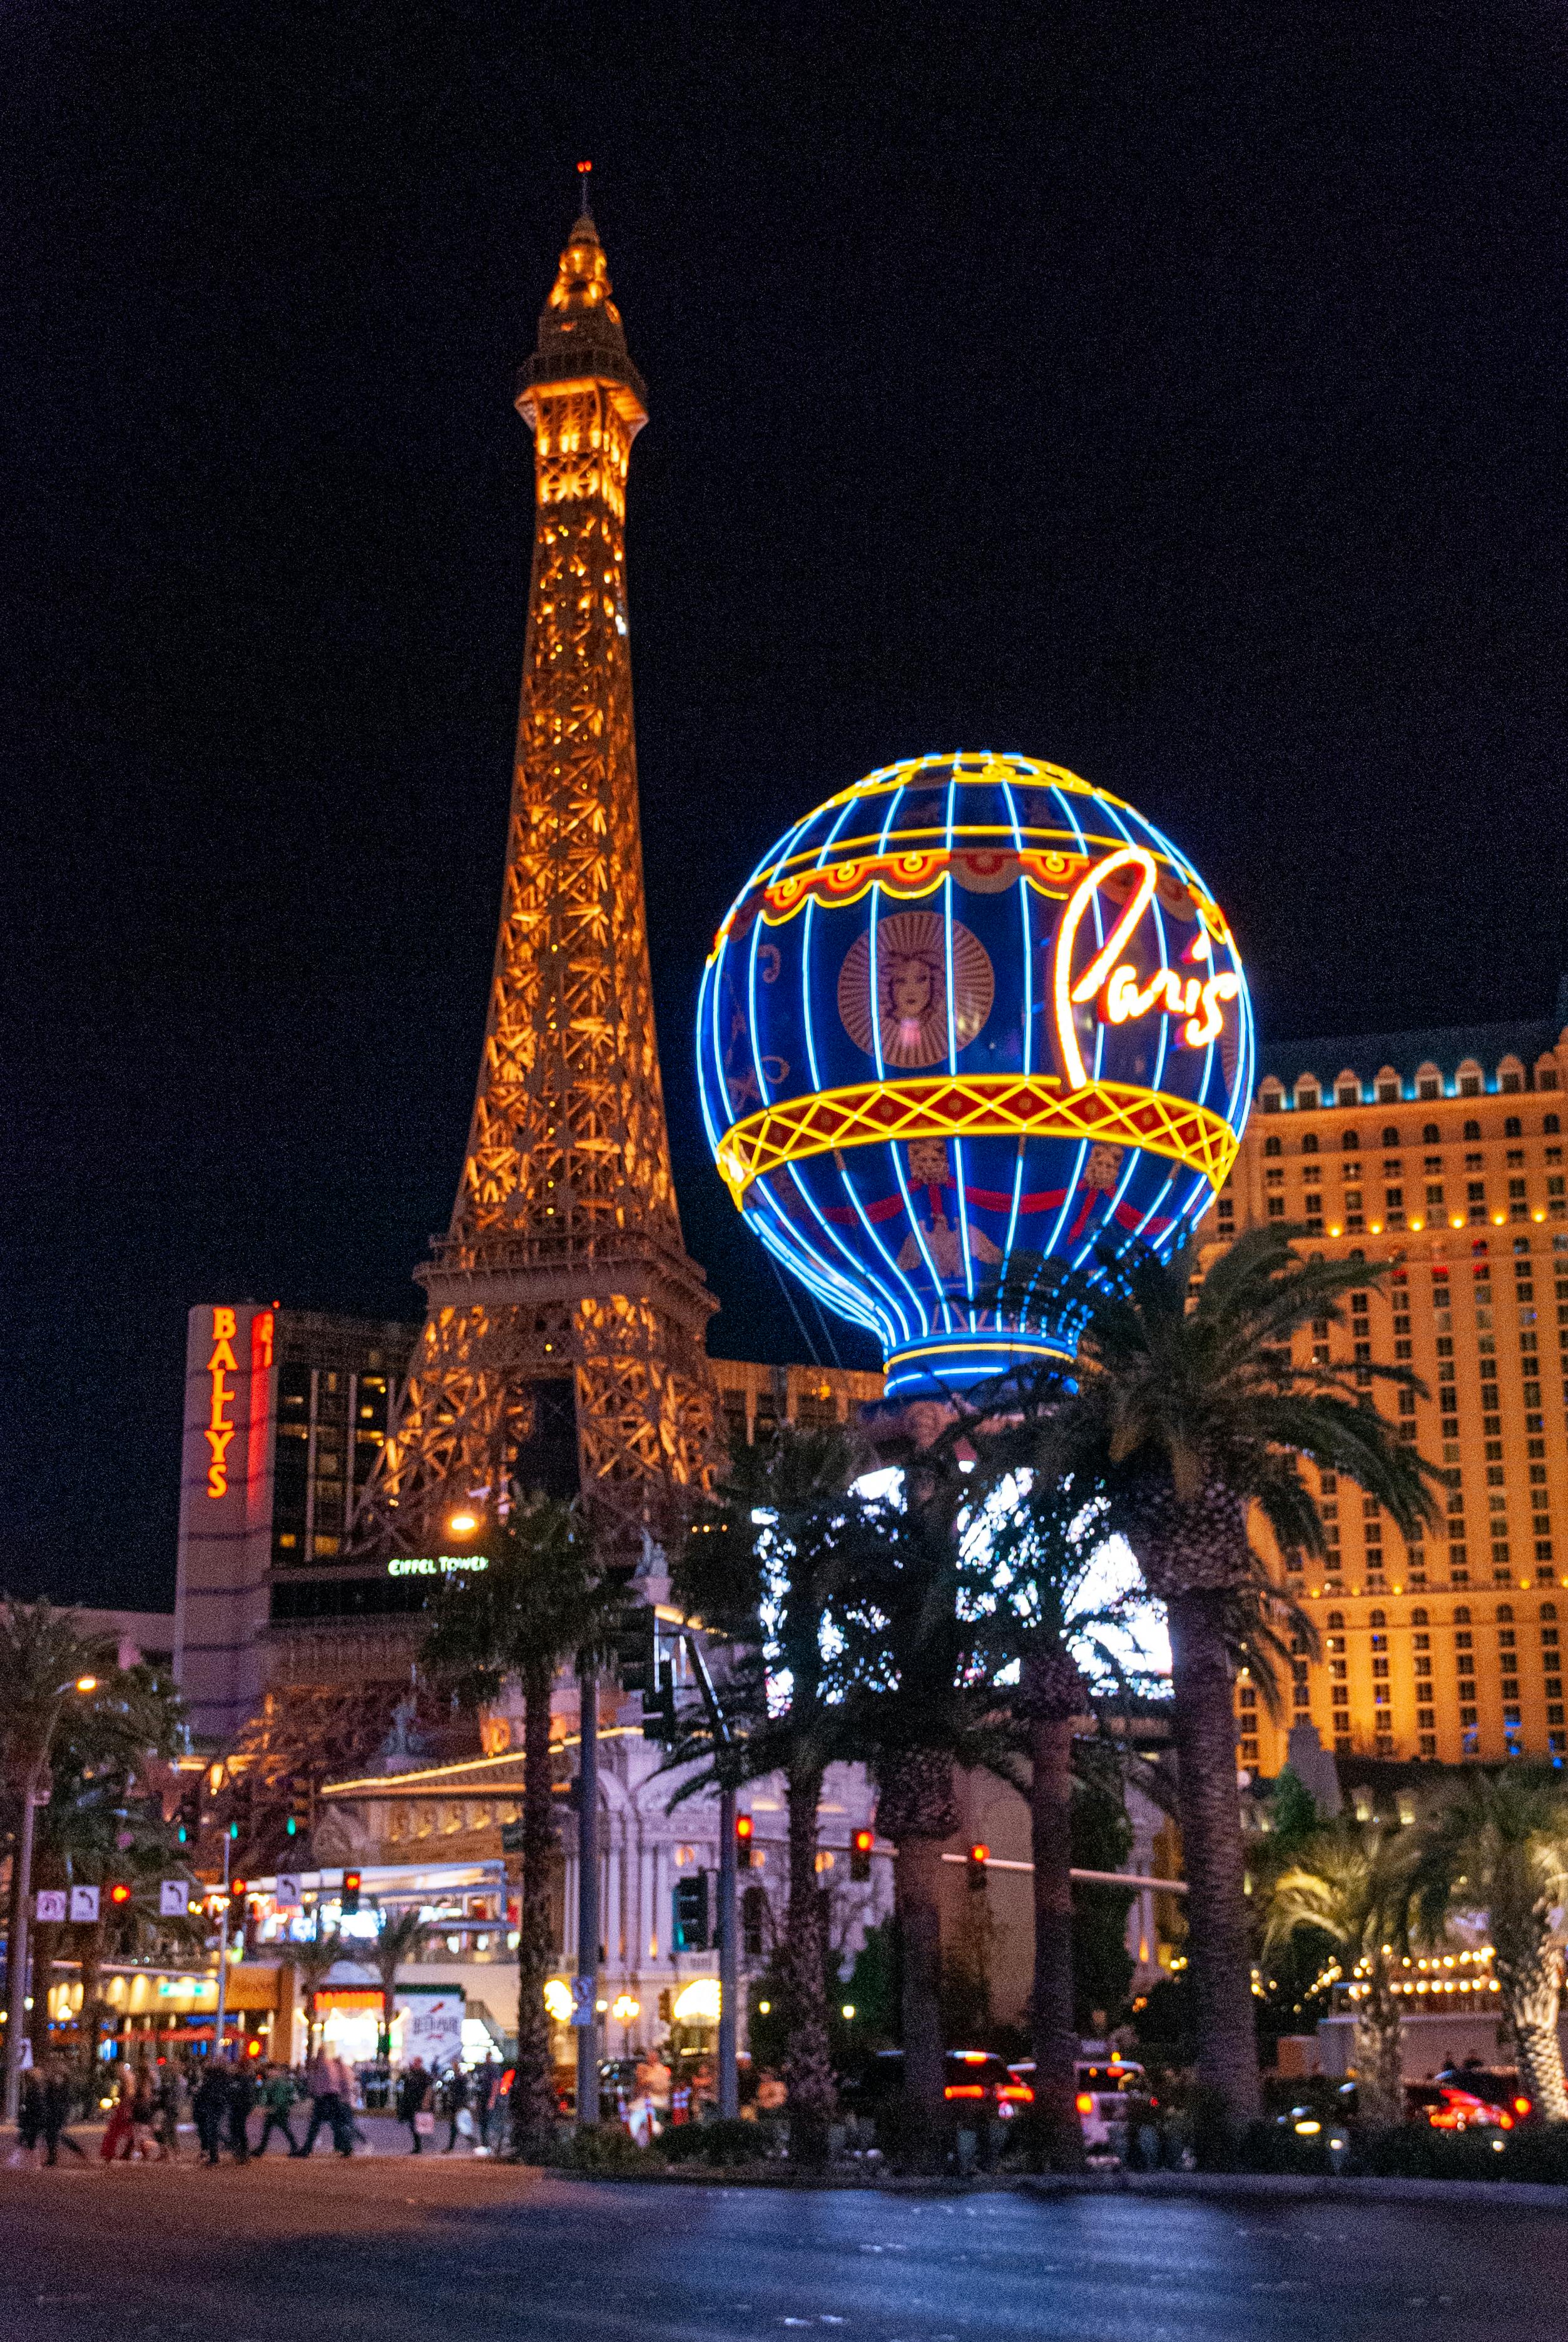
[[[714,1162],[768,1251],[878,1335],[894,1398],[1077,1326],[1009,1309],[1041,1262],[1170,1251],[1252,1094],[1247,981],[1194,864],[1030,756],[920,756],[768,852],[697,1005]]]

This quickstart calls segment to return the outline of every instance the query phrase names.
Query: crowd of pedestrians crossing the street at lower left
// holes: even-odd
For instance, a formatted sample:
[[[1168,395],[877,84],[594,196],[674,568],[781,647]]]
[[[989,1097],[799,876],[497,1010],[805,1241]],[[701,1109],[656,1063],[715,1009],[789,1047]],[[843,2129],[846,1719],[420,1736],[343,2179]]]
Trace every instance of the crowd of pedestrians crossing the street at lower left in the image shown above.
[[[452,2155],[466,2143],[475,2155],[491,2152],[491,2127],[503,2098],[503,2073],[491,2056],[473,2073],[428,2070],[424,2059],[403,2068],[396,2091],[396,2117],[407,2127],[414,2155],[428,2150]],[[70,2136],[80,2096],[66,2061],[51,2056],[42,2070],[21,2077],[16,2148],[12,2162],[59,2164],[61,2148],[87,2162]],[[295,2131],[295,2110],[304,2131]],[[325,2131],[332,2152],[349,2157],[370,2148],[360,2124],[363,2094],[351,2066],[332,2049],[321,2049],[302,2070],[250,2063],[178,2063],[136,2066],[119,2077],[110,2117],[98,2143],[98,2157],[115,2162],[180,2162],[180,2134],[197,2134],[197,2159],[218,2164],[227,2155],[248,2164],[267,2155],[274,2138],[290,2157],[314,2155]],[[447,2141],[438,2143],[445,2120]]]

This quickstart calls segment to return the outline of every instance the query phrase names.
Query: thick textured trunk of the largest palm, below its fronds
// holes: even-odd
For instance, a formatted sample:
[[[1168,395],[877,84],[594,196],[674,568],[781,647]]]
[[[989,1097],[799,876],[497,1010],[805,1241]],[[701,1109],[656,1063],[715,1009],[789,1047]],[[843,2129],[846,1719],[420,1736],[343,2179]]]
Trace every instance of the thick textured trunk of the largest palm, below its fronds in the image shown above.
[[[1261,2112],[1252,2019],[1252,1930],[1247,1925],[1236,1789],[1231,1658],[1222,1595],[1172,1595],[1170,1679],[1175,1691],[1177,1796],[1187,1857],[1187,1927],[1198,2014],[1198,2087],[1229,2122]]]

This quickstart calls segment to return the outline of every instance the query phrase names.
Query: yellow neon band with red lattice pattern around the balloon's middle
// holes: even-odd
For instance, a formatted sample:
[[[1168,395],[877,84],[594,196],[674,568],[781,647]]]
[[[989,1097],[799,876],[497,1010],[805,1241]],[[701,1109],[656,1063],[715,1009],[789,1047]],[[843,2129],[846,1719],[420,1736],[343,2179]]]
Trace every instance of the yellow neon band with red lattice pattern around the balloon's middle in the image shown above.
[[[1168,1155],[1219,1190],[1240,1141],[1208,1105],[1135,1082],[1062,1091],[1053,1073],[971,1073],[920,1082],[854,1082],[765,1105],[718,1143],[718,1176],[740,1211],[754,1178],[838,1148],[908,1138],[1105,1138]]]

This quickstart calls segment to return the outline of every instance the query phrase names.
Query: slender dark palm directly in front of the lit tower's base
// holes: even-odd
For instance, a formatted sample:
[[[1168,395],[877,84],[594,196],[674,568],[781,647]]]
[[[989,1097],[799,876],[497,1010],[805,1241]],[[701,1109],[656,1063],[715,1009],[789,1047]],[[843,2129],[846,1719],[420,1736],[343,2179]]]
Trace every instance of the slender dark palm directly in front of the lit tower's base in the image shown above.
[[[517,2068],[510,2094],[513,2155],[538,2159],[555,2129],[545,1981],[555,1960],[550,1874],[550,1693],[559,1668],[599,1656],[625,1611],[625,1586],[597,1557],[576,1506],[517,1494],[491,1515],[489,1567],[442,1583],[424,1665],[468,1705],[501,1684],[522,1689],[522,1913],[517,1932]]]

